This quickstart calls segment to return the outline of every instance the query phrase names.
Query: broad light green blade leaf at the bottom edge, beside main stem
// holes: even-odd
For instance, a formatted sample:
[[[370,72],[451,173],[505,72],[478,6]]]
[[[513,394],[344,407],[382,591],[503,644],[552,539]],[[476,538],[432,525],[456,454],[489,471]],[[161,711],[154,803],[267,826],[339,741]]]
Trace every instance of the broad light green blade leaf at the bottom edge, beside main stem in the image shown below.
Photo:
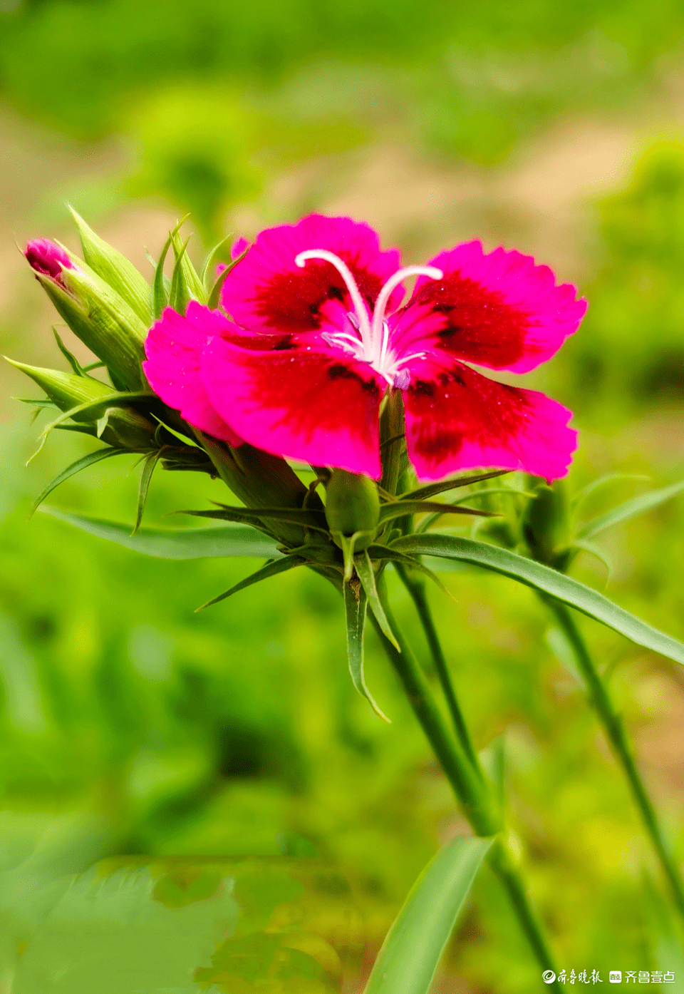
[[[364,994],[428,994],[490,839],[454,839],[414,884],[385,936]]]

